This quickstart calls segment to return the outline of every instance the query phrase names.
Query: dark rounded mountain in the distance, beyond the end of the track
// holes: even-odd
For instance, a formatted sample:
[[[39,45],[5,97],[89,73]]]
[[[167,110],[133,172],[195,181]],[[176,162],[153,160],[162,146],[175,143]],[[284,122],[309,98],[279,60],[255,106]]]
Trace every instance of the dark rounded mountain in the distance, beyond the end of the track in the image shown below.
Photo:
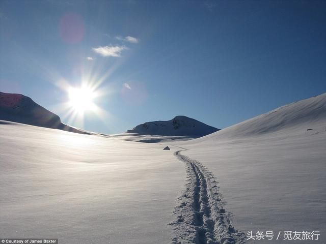
[[[198,138],[219,131],[215,127],[208,126],[196,119],[186,116],[176,116],[168,121],[151,121],[138,125],[126,133],[137,135],[160,135],[160,136],[185,136]]]

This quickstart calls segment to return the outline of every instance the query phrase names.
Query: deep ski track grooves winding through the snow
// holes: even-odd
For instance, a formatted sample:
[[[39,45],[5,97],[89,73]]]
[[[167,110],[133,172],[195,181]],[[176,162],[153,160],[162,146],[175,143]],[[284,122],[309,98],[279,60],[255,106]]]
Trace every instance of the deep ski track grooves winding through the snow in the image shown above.
[[[182,148],[186,150],[185,148]],[[175,207],[173,244],[239,244],[244,233],[234,229],[231,213],[223,207],[218,182],[200,162],[175,152],[186,165],[187,183]]]

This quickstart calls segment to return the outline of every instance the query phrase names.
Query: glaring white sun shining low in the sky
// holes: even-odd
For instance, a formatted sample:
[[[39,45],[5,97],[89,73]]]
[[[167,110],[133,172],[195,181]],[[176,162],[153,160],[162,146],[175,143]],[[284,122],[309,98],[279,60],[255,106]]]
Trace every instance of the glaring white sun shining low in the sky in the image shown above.
[[[87,86],[70,87],[68,90],[69,105],[78,113],[95,109],[96,93]]]

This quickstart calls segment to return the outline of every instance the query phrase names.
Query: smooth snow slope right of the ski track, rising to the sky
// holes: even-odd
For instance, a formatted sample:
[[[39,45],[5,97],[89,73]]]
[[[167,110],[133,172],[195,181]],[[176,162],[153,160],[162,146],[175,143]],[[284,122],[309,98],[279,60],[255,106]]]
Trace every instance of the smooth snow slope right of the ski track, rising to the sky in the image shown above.
[[[284,231],[320,231],[313,242],[326,243],[326,94],[175,145],[219,180],[237,229],[282,232],[249,243],[287,243]]]

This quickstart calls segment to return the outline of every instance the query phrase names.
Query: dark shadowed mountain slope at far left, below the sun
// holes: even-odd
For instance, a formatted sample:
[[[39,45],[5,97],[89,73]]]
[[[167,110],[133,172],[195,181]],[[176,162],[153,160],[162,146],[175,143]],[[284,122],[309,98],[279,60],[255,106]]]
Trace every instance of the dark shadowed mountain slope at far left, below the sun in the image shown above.
[[[35,103],[31,98],[21,94],[0,92],[0,120],[60,129],[80,134],[90,134],[86,131],[63,124],[57,114],[46,110]]]

